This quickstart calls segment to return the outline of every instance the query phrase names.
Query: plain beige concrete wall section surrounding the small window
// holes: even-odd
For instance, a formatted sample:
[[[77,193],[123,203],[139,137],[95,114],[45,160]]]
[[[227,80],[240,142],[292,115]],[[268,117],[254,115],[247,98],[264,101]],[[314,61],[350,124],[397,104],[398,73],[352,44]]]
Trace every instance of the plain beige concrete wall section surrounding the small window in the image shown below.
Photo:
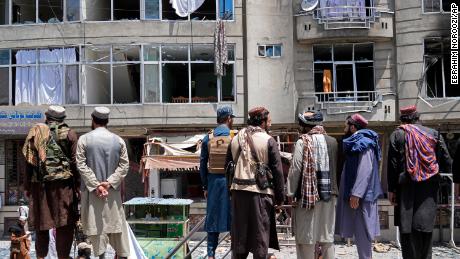
[[[292,1],[247,2],[249,109],[265,106],[274,124],[295,121]],[[282,44],[280,58],[258,57],[258,44]]]

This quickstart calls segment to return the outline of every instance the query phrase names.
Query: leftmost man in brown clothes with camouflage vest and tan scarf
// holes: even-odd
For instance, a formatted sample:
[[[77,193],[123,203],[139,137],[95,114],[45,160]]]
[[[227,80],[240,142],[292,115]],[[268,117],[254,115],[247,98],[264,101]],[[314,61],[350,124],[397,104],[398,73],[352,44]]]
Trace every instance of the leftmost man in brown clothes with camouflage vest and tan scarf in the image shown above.
[[[26,138],[24,189],[30,201],[29,223],[35,228],[38,258],[48,254],[49,230],[56,228],[58,257],[69,258],[77,216],[80,175],[76,168],[77,134],[64,123],[65,109],[50,106],[45,124]],[[50,146],[54,141],[54,148]],[[58,154],[59,153],[59,154]],[[58,155],[56,155],[58,154]]]

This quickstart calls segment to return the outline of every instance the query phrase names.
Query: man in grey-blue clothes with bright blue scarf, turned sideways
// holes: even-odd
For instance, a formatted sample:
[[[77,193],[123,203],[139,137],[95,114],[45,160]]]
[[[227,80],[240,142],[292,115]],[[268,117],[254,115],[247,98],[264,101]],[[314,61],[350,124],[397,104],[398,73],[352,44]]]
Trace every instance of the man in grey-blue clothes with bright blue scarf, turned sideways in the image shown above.
[[[335,233],[355,238],[359,259],[372,258],[372,241],[380,235],[377,200],[383,194],[379,178],[378,135],[366,129],[359,114],[347,118],[343,140],[346,159],[340,181]]]

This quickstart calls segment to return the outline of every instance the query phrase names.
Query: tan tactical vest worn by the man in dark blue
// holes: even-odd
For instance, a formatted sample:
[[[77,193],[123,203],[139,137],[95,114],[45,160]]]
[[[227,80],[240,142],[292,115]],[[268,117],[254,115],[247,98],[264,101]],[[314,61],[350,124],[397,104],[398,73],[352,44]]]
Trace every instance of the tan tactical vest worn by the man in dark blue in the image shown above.
[[[230,130],[229,136],[214,136],[213,131],[209,133],[209,173],[225,174],[225,157],[227,155],[227,149],[232,143],[233,136],[235,136],[236,132],[235,130]]]

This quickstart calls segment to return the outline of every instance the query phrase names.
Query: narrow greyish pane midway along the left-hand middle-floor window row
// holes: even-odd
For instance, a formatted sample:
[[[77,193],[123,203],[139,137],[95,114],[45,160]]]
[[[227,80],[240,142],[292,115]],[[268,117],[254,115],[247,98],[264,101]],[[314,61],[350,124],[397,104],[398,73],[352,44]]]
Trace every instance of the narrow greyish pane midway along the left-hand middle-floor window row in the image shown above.
[[[144,65],[144,102],[160,102],[160,72],[158,64]]]

